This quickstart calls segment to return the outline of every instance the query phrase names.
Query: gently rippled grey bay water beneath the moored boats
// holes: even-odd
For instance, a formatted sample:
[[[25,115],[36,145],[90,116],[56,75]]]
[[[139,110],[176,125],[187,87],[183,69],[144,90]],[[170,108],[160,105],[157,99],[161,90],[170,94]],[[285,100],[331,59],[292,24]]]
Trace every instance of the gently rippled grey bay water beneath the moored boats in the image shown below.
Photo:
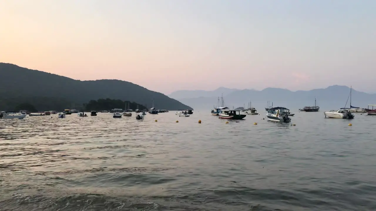
[[[376,210],[376,118],[264,116],[2,120],[0,210]]]

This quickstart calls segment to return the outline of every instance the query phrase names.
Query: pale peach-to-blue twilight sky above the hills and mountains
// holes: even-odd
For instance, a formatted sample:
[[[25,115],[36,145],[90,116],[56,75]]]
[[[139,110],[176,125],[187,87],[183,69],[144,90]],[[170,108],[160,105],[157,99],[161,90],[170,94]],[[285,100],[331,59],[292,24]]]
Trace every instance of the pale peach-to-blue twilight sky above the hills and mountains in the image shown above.
[[[0,0],[0,62],[175,90],[376,89],[374,0]]]

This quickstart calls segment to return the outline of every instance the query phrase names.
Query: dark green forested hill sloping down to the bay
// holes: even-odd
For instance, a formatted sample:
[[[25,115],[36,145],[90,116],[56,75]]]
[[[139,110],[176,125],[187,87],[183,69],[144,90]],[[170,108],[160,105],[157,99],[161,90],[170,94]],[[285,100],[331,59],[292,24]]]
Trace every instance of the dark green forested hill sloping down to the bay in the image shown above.
[[[7,99],[21,102],[23,99],[56,99],[54,104],[64,102],[83,104],[92,99],[121,99],[137,102],[150,108],[152,101],[157,109],[192,109],[168,96],[148,90],[137,84],[121,80],[80,81],[47,72],[22,68],[9,63],[0,63],[0,105]],[[67,103],[69,102],[69,104]],[[44,104],[49,104],[45,101]],[[40,103],[39,103],[40,104]],[[65,105],[68,104],[68,105]],[[56,105],[55,105],[56,106]],[[0,108],[2,109],[2,108]],[[51,110],[55,107],[51,107]]]

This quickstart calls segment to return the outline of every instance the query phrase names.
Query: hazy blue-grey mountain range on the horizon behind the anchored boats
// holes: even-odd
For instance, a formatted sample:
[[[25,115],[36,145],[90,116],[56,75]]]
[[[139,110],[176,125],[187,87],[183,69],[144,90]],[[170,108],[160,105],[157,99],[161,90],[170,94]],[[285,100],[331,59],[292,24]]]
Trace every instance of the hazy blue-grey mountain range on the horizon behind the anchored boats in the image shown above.
[[[227,107],[247,107],[248,102],[252,102],[252,107],[256,109],[264,110],[267,107],[267,101],[273,102],[274,106],[283,106],[290,109],[299,109],[304,106],[312,106],[317,99],[317,105],[322,109],[337,109],[344,107],[350,94],[350,87],[333,85],[325,89],[312,89],[309,91],[290,91],[288,89],[279,88],[265,88],[261,91],[254,89],[228,89],[221,87],[221,90],[225,90],[223,93],[224,104]],[[196,91],[184,90],[187,96],[197,93]],[[174,92],[174,93],[179,93]],[[196,95],[196,97],[176,97],[180,102],[190,104],[196,109],[211,109],[213,106],[217,106],[218,97],[221,93],[214,91],[201,91],[202,95]],[[172,95],[173,93],[171,93]],[[352,89],[352,106],[365,107],[368,104],[376,104],[376,94],[369,94],[365,92],[359,92]],[[350,99],[347,102],[346,107],[350,107]]]

